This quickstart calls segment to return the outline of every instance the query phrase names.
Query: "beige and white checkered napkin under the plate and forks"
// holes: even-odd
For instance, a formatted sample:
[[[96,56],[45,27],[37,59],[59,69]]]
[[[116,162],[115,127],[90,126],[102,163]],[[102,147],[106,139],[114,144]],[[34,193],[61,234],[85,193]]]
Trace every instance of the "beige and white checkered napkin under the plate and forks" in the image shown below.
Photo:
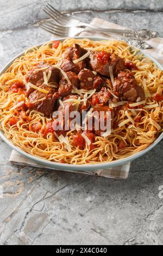
[[[111,23],[108,21],[104,21],[101,19],[94,19],[91,22],[91,25],[93,27],[103,27],[103,28],[119,28],[123,29],[124,27],[121,27],[115,23]],[[103,33],[96,33],[93,32],[83,32],[81,34],[82,36],[95,36],[95,37],[101,37],[106,39],[115,40],[115,34],[103,34]],[[58,38],[58,36],[53,35],[52,39]],[[144,52],[149,53],[151,56],[153,56],[158,62],[163,64],[163,38],[152,38],[148,40],[148,43],[152,45],[152,49],[144,50]],[[17,153],[15,150],[12,150],[11,156],[10,156],[10,163],[14,164],[21,164],[23,166],[32,166],[37,168],[43,168],[43,169],[52,169],[49,167],[45,167],[41,164],[38,164],[37,162],[34,162],[30,159],[27,159],[26,157],[22,156],[21,154]],[[128,177],[130,168],[130,162],[126,164],[122,164],[121,166],[112,167],[109,169],[99,169],[94,171],[84,170],[84,171],[74,171],[74,170],[65,170],[66,172],[72,172],[72,173],[81,173],[81,174],[89,174],[89,175],[98,175],[103,176],[105,178],[115,178],[115,179],[126,179]]]

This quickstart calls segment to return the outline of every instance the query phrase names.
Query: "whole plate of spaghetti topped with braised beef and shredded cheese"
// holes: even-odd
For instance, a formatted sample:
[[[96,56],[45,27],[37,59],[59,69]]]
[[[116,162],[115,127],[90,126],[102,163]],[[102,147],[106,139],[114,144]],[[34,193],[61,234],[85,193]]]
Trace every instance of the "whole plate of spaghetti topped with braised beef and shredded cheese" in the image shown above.
[[[162,90],[162,66],[126,42],[49,41],[1,71],[0,135],[55,169],[117,166],[161,141]]]

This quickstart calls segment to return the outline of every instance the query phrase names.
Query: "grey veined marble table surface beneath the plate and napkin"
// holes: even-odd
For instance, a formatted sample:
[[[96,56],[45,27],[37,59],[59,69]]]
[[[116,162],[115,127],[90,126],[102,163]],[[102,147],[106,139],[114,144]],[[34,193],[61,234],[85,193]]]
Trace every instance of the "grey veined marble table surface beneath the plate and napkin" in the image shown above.
[[[50,39],[38,27],[43,0],[0,0],[0,69],[26,48]],[[14,4],[13,4],[14,3]],[[163,36],[162,0],[55,0],[84,22],[94,17]],[[131,163],[127,180],[9,164],[0,141],[1,245],[163,244],[163,141]]]

